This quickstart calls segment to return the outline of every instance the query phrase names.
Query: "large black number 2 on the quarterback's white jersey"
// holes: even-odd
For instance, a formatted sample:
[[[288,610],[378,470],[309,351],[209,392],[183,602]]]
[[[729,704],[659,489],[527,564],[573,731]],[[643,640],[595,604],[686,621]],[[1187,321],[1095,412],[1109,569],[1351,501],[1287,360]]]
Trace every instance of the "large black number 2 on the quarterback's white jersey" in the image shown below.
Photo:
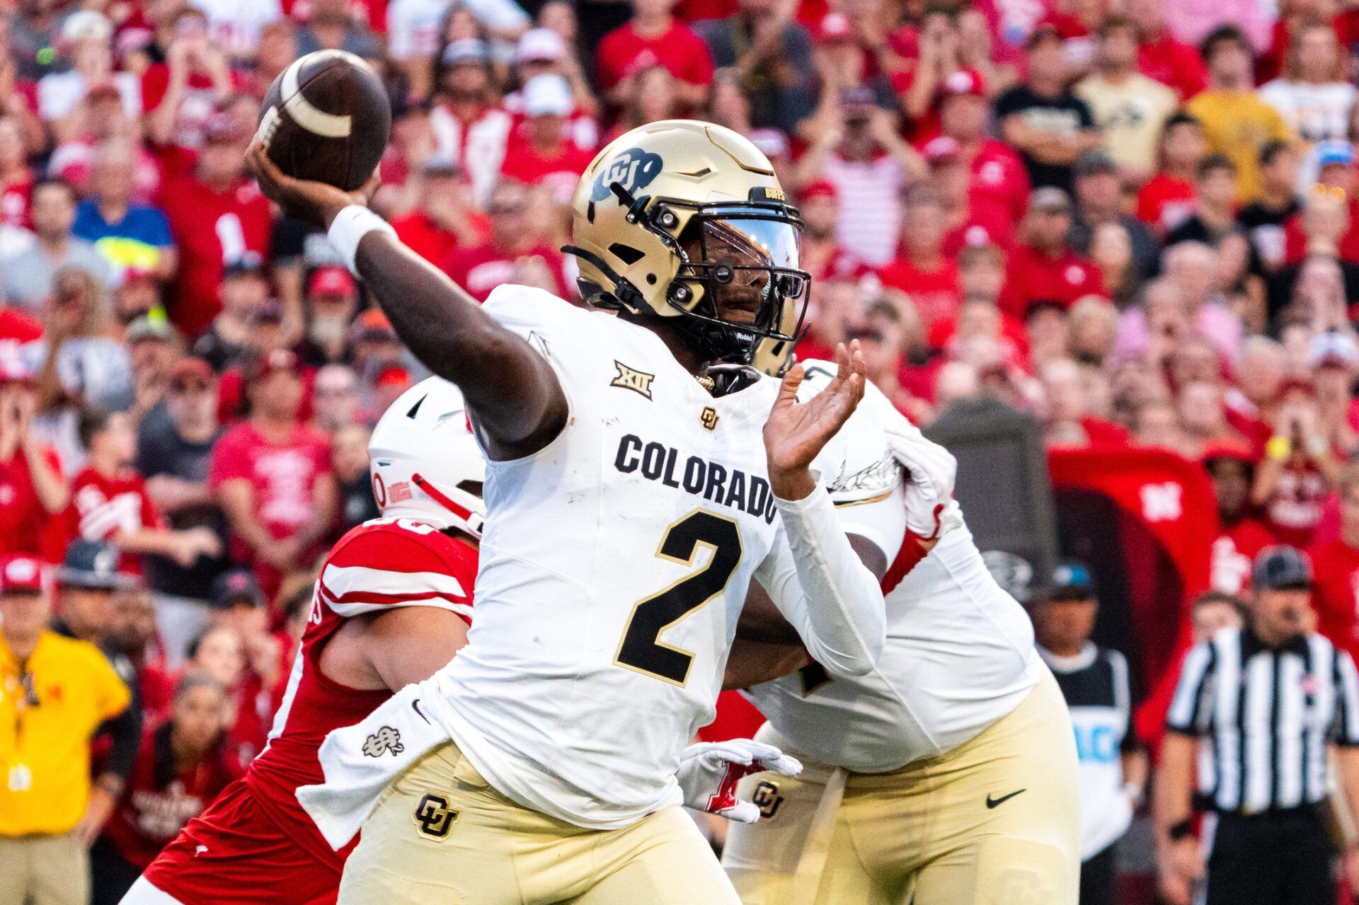
[[[656,556],[693,565],[699,548],[712,550],[703,568],[632,607],[614,663],[674,685],[688,681],[693,654],[666,644],[660,633],[727,588],[731,573],[741,565],[741,527],[733,519],[694,510],[666,529]]]

